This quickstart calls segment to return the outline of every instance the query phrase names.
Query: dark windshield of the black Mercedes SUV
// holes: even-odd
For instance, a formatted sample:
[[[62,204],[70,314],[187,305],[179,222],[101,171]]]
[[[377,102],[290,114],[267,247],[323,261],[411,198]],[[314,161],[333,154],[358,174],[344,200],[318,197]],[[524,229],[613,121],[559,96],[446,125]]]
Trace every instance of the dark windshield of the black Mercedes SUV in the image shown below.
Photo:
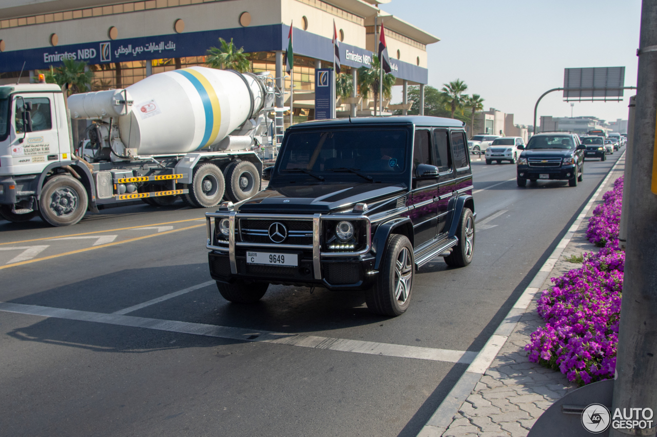
[[[278,173],[311,172],[316,178],[320,174],[328,178],[328,175],[337,175],[347,169],[366,176],[402,173],[406,165],[406,148],[407,132],[401,129],[291,133],[279,157]]]

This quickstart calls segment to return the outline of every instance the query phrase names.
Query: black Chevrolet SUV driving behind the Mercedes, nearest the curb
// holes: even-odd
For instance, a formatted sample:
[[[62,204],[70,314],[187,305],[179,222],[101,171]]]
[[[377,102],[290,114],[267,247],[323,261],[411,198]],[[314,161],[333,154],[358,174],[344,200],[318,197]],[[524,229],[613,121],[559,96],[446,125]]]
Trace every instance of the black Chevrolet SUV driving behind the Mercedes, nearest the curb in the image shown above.
[[[579,136],[573,133],[539,133],[530,138],[518,158],[518,186],[527,180],[568,180],[577,186],[584,175],[584,151]]]

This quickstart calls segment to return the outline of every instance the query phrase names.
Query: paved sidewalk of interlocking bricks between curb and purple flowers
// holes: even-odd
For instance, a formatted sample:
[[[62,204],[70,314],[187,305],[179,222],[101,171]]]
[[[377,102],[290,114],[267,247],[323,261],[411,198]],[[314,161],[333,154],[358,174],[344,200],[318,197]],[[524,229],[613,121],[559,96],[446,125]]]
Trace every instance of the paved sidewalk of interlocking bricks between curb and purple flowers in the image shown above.
[[[612,189],[614,180],[623,175],[624,169],[625,157],[622,157],[591,209],[581,220],[579,228],[572,234],[560,256],[555,257],[551,272],[543,275],[546,278],[537,291],[551,287],[550,278],[581,266],[568,262],[566,258],[599,250],[586,239],[589,217],[602,202],[602,194]],[[531,333],[543,325],[543,319],[536,312],[536,301],[540,295],[540,292],[535,293],[509,339],[453,417],[443,437],[526,436],[543,411],[577,388],[562,373],[530,363],[524,351],[524,346],[530,342]]]

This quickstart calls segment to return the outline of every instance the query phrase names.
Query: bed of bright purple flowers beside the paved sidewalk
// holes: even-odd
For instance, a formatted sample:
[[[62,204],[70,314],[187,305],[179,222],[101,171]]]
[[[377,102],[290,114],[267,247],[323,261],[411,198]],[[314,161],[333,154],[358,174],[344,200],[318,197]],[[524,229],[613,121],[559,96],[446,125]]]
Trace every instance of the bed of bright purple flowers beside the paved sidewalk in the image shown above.
[[[581,268],[552,278],[553,287],[543,291],[537,307],[545,327],[525,346],[530,361],[564,373],[579,386],[613,378],[616,370],[625,266],[625,253],[618,249],[622,192],[620,177],[589,221],[587,238],[602,249],[585,253]]]

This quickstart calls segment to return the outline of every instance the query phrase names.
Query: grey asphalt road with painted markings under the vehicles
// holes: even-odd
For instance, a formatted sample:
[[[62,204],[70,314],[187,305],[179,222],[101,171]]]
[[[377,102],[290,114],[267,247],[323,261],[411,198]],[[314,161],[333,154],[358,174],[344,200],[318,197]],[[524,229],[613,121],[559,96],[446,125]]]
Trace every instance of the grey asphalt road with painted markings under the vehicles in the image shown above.
[[[326,289],[223,301],[206,210],[180,202],[0,221],[0,434],[415,436],[620,154],[587,161],[576,188],[474,162],[474,261],[423,266],[397,318]]]

